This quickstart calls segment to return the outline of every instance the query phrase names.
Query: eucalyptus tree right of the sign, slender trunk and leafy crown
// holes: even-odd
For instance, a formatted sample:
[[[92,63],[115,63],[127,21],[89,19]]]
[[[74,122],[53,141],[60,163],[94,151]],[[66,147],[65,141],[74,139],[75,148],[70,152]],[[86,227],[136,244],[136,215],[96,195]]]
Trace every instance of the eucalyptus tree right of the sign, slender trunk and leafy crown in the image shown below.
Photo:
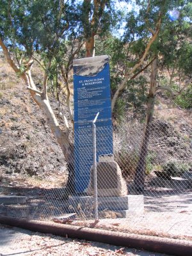
[[[180,92],[189,88],[191,84],[191,3],[154,0],[136,1],[136,4],[136,8],[127,13],[124,36],[109,36],[102,44],[106,53],[111,56],[113,110],[116,111],[118,102],[121,103],[122,99],[127,98],[126,93],[130,93],[132,84],[135,84],[138,90],[148,86],[148,93],[143,90],[143,100],[147,103],[145,131],[134,179],[136,188],[143,190],[149,126],[153,117],[156,93],[158,90],[171,90],[170,86],[161,84],[160,71],[168,68],[170,84],[173,82],[173,76],[180,74],[183,81]],[[179,13],[177,19],[170,18],[172,10]],[[146,76],[138,79],[145,70],[150,72],[149,81],[146,80]]]

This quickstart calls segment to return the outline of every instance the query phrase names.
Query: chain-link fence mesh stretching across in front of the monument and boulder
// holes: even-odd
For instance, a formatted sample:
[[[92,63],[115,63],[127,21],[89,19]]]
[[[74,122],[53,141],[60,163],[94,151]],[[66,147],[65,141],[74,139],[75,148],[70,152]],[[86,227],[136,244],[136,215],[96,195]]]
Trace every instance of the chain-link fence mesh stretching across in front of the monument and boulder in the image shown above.
[[[95,227],[175,237],[188,243],[192,236],[190,125],[176,129],[170,122],[158,119],[147,128],[136,121],[113,129],[104,124],[97,127],[97,122],[95,125],[97,197],[90,124],[74,134],[78,141],[73,146],[74,164],[66,164],[60,172],[52,170],[57,176],[54,186],[49,186],[48,177],[46,184],[40,180],[28,193],[21,189],[20,195],[28,197],[28,204],[1,205],[1,213],[8,210],[13,216],[61,223],[70,216],[68,223],[93,227],[97,207],[99,222]],[[188,136],[183,129],[188,129]],[[2,145],[1,155],[3,150],[7,149]],[[8,159],[1,157],[1,166],[4,164]],[[72,178],[70,183],[68,177]]]

